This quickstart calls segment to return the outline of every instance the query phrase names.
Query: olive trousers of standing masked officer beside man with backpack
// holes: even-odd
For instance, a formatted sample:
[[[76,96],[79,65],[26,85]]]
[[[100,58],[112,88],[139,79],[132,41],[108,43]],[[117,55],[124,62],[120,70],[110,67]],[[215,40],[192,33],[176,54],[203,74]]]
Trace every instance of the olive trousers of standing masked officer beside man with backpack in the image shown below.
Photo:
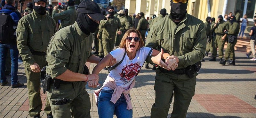
[[[47,65],[45,61],[45,56],[33,55],[34,60],[42,69],[45,65]],[[25,73],[27,76],[27,88],[28,88],[28,100],[29,100],[29,110],[28,114],[30,117],[36,116],[42,110],[42,101],[41,101],[41,77],[40,72],[32,72],[30,65],[28,63],[24,63]],[[46,103],[44,107],[44,112],[46,114],[52,114],[51,106],[49,104],[48,99],[46,98]]]

